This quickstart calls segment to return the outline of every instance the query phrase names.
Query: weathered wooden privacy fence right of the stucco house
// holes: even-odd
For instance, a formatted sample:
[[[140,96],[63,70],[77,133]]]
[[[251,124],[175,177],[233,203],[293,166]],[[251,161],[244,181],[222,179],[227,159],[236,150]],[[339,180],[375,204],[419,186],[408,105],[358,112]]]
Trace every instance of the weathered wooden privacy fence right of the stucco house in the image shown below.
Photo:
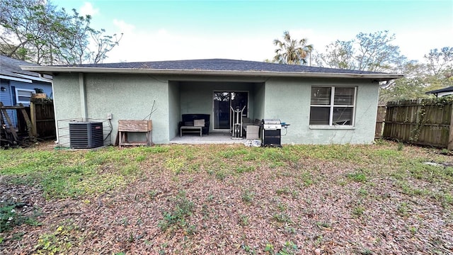
[[[389,102],[382,136],[417,145],[453,149],[452,106],[449,98]]]

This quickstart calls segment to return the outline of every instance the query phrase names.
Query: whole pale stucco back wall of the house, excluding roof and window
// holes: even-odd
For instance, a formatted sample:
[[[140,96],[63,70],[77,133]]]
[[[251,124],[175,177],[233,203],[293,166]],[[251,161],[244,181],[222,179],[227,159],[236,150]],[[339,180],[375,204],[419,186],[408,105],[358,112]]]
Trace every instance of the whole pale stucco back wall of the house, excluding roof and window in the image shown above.
[[[87,117],[106,119],[113,114],[111,142],[115,142],[117,121],[142,120],[151,112],[152,139],[168,143],[178,135],[178,122],[184,113],[211,115],[213,91],[248,91],[250,118],[279,118],[291,124],[283,144],[370,143],[374,140],[379,86],[356,79],[285,79],[273,78],[225,81],[215,77],[164,77],[146,74],[84,74]],[[309,126],[311,86],[356,86],[355,125],[320,129]],[[57,120],[81,118],[79,74],[54,77]],[[62,127],[59,127],[62,128]],[[283,133],[285,130],[283,130]],[[133,137],[133,136],[132,136]]]

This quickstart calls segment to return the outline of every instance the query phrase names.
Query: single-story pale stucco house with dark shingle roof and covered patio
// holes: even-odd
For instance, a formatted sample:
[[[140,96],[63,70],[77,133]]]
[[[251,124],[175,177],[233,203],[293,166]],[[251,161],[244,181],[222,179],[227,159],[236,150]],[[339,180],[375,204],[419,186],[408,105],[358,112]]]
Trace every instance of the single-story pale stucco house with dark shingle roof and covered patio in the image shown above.
[[[282,143],[363,144],[374,140],[379,81],[386,74],[242,60],[180,60],[22,67],[54,76],[57,120],[117,121],[152,115],[152,140],[179,136],[184,113],[210,114],[210,133],[228,132],[229,106],[250,119],[291,124]],[[155,102],[155,103],[154,103]]]

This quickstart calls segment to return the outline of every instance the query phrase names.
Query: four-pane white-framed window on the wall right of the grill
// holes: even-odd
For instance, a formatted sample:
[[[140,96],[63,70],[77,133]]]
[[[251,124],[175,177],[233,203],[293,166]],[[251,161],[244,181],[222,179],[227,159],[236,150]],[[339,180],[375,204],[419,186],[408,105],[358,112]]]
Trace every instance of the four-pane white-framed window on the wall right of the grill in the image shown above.
[[[354,125],[355,87],[311,87],[310,125]]]

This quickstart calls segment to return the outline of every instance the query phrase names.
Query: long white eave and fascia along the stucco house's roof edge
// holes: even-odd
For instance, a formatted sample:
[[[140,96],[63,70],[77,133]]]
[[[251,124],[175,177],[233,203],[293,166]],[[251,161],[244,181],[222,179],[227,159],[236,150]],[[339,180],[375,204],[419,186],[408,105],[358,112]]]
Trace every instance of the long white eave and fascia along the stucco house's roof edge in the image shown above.
[[[208,76],[246,76],[246,77],[313,77],[313,78],[350,78],[376,79],[387,81],[404,77],[403,74],[354,74],[354,73],[324,73],[324,72],[268,72],[268,71],[224,71],[202,69],[135,69],[135,68],[105,68],[105,67],[42,67],[21,66],[25,71],[52,74],[66,73],[110,73],[110,74],[171,74],[171,75],[208,75]]]

